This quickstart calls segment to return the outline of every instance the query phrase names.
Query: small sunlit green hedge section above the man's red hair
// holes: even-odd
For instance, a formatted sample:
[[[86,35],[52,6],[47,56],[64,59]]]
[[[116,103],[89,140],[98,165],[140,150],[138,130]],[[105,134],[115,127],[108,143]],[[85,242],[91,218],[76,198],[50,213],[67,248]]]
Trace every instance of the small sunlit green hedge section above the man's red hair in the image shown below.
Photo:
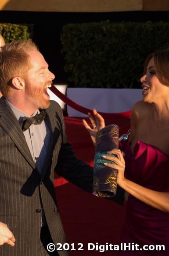
[[[32,38],[33,25],[0,23],[0,34],[5,42]]]

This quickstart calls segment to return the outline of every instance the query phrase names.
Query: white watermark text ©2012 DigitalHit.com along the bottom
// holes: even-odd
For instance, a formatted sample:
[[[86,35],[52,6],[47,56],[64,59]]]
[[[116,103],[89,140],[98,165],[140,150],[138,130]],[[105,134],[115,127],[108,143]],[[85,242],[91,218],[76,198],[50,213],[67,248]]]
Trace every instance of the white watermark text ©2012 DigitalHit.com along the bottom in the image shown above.
[[[48,252],[54,251],[165,251],[165,245],[142,245],[137,243],[120,243],[119,245],[113,245],[111,243],[99,244],[99,243],[58,243],[54,245],[50,243],[47,245]]]

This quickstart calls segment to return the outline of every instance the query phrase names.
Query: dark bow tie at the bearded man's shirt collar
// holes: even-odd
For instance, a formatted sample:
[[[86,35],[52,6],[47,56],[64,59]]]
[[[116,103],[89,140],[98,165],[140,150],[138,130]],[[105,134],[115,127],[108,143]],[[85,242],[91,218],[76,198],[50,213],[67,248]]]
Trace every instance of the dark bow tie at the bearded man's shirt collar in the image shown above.
[[[36,114],[34,117],[23,117],[21,122],[22,131],[25,132],[31,124],[41,124],[46,116],[46,110],[43,109],[40,114]]]

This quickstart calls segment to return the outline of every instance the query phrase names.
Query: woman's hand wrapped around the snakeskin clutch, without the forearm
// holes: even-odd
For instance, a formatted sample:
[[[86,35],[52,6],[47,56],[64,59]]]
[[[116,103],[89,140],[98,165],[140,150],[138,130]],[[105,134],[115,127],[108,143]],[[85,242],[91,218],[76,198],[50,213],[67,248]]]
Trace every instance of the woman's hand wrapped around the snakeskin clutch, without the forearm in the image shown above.
[[[103,156],[103,158],[115,162],[115,164],[104,163],[104,165],[117,170],[117,184],[119,186],[121,186],[122,182],[124,182],[126,180],[126,178],[124,177],[125,160],[123,158],[122,152],[119,149],[113,149],[113,150],[109,151],[108,154],[116,154],[117,155],[117,157]]]

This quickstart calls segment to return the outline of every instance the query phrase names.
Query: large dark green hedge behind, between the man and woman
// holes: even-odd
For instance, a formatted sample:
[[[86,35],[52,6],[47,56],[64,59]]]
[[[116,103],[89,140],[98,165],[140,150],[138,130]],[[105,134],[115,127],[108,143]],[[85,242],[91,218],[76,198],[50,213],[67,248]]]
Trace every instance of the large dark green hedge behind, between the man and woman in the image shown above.
[[[146,56],[169,46],[169,23],[68,24],[61,41],[70,86],[139,88]]]

